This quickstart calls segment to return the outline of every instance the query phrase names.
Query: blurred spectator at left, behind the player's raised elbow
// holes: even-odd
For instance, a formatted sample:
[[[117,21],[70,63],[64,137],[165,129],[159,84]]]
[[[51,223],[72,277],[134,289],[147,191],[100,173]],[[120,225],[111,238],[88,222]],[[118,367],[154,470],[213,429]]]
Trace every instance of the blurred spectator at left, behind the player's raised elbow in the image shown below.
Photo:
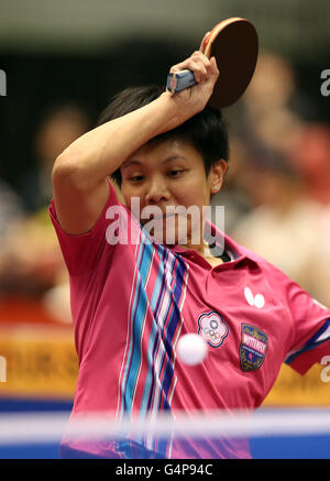
[[[58,154],[87,130],[87,117],[74,106],[62,106],[47,114],[35,141],[37,165],[24,177],[20,192],[25,215],[7,223],[2,242],[0,294],[38,298],[62,321],[70,321],[69,289],[48,217],[52,168]]]

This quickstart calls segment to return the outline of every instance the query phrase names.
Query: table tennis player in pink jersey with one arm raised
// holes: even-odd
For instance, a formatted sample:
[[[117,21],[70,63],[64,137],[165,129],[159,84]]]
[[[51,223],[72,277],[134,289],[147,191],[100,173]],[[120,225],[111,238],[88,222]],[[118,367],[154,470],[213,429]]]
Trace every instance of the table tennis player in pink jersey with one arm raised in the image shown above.
[[[282,362],[304,374],[330,353],[330,311],[265,260],[227,236],[223,249],[212,240],[217,253],[207,236],[193,240],[189,220],[185,243],[178,237],[158,242],[144,220],[132,222],[132,198],[141,210],[158,207],[166,230],[168,206],[197,206],[201,212],[223,182],[228,135],[221,113],[207,106],[219,75],[216,61],[196,52],[173,67],[182,68],[195,73],[195,87],[176,95],[153,87],[124,90],[100,124],[54,164],[50,214],[69,273],[79,358],[72,419],[94,412],[118,419],[183,411],[253,412]],[[109,210],[114,206],[124,215],[114,218]],[[128,242],[111,242],[118,230],[129,233]],[[213,225],[211,233],[222,239]],[[205,361],[194,367],[176,356],[178,339],[187,332],[199,334],[208,346]],[[65,437],[62,456],[251,455],[243,439],[182,442],[140,436]]]

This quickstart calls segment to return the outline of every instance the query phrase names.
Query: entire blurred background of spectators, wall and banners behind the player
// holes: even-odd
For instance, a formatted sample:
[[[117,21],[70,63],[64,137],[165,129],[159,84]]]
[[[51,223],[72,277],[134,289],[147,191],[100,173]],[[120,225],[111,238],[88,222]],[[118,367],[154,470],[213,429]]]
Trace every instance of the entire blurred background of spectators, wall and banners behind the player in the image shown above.
[[[47,212],[56,156],[114,94],[165,83],[229,17],[254,23],[261,52],[223,110],[231,160],[212,201],[228,234],[330,306],[328,0],[0,0],[0,411],[69,409],[74,395],[67,275]],[[293,405],[330,405],[319,367],[283,368],[265,406]]]

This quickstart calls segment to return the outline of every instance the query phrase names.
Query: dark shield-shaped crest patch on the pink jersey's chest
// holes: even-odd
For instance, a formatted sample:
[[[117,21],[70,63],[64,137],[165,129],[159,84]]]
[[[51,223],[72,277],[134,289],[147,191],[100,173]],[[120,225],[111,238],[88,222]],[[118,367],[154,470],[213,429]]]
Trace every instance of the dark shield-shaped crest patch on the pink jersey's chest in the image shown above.
[[[244,372],[260,369],[268,348],[268,336],[257,327],[242,324],[240,361]]]

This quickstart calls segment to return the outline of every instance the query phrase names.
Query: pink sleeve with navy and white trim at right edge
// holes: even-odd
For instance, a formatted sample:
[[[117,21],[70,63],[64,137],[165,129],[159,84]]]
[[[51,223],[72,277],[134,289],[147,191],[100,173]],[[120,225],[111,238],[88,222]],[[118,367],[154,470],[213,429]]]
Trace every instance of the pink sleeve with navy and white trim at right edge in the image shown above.
[[[282,283],[294,329],[285,363],[305,374],[330,353],[330,310],[285,275]]]

